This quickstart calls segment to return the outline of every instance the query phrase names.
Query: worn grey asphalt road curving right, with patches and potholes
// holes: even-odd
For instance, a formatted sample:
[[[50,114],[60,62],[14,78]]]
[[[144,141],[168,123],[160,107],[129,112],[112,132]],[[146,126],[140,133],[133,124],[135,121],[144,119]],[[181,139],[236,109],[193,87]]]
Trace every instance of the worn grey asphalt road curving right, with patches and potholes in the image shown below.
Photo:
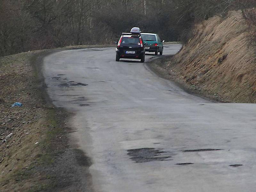
[[[114,48],[54,53],[44,76],[53,103],[74,113],[96,192],[255,192],[255,104],[190,95],[146,64],[116,62]]]

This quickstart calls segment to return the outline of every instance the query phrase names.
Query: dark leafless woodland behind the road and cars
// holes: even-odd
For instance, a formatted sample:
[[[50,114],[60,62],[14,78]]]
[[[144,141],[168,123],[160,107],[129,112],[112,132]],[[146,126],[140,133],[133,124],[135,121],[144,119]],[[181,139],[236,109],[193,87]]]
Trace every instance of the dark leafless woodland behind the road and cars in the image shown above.
[[[112,44],[140,27],[186,43],[193,26],[241,10],[256,34],[255,0],[0,0],[0,56],[67,45]]]

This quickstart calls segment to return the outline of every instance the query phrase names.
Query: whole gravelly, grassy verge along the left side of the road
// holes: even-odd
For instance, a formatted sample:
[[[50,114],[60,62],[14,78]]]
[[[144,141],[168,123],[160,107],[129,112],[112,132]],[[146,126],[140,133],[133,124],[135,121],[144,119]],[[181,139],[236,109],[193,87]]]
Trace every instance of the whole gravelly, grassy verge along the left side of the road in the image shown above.
[[[0,58],[0,191],[92,191],[91,161],[69,140],[72,114],[52,105],[41,64],[53,52],[93,47],[106,45]],[[14,102],[23,106],[11,108]]]

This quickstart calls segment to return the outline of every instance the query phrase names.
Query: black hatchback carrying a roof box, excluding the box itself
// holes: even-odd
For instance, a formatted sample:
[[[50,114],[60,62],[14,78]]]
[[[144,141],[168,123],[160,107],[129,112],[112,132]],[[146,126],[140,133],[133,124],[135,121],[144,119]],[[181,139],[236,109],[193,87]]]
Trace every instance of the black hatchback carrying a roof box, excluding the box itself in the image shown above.
[[[122,33],[116,46],[116,61],[119,59],[140,59],[145,61],[145,47],[140,34]]]

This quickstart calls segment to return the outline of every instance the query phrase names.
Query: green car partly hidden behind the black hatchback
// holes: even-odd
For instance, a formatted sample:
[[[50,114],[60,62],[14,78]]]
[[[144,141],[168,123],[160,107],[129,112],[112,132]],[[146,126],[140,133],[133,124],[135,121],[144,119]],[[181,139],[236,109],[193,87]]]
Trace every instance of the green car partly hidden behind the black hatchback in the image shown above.
[[[141,33],[146,52],[155,52],[155,55],[163,55],[164,41],[155,33]]]

